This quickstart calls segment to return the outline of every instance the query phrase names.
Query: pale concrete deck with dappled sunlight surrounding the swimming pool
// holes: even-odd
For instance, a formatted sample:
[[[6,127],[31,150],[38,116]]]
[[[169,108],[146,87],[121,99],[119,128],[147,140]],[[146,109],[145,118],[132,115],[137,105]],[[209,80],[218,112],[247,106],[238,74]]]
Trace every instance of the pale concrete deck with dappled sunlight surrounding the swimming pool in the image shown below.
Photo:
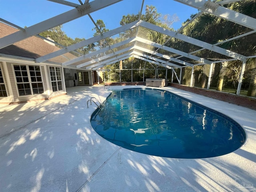
[[[1,192],[256,191],[256,111],[172,87],[168,90],[233,118],[244,146],[205,159],[161,158],[101,138],[90,126],[110,90],[145,86],[78,86],[53,100],[0,105]]]

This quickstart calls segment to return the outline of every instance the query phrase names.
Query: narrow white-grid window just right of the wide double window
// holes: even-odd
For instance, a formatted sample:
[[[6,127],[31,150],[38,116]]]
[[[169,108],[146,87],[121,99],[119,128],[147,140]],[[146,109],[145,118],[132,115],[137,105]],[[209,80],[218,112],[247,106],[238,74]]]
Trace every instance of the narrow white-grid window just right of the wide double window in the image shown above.
[[[52,91],[56,92],[63,90],[60,67],[50,67],[50,76],[52,82]]]

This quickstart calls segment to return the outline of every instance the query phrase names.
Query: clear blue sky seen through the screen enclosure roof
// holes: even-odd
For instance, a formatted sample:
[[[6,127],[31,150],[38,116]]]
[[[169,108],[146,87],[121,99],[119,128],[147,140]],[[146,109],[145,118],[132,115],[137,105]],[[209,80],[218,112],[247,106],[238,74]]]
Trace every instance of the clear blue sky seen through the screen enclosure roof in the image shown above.
[[[69,0],[79,4],[78,0]],[[83,2],[84,0],[82,0]],[[92,1],[92,0],[90,0]],[[106,28],[112,30],[120,26],[120,20],[123,15],[137,14],[140,11],[142,0],[123,0],[112,6],[108,6],[97,12],[91,13],[95,20],[102,19]],[[197,13],[195,8],[180,4],[173,0],[145,0],[143,12],[146,5],[153,5],[162,15],[176,14],[179,21],[172,27],[178,29],[191,14]],[[0,18],[8,20],[18,26],[32,26],[48,18],[73,9],[73,7],[50,2],[47,0],[0,0]],[[66,24],[63,24],[62,30],[71,38],[90,38],[93,36],[94,24],[88,16],[83,16]]]

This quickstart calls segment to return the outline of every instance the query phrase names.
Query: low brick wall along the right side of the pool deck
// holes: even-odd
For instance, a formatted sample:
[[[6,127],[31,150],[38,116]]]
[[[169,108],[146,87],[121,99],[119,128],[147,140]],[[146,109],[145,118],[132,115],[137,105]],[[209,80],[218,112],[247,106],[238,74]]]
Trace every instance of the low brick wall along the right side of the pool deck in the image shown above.
[[[256,110],[256,98],[169,83],[169,86]]]

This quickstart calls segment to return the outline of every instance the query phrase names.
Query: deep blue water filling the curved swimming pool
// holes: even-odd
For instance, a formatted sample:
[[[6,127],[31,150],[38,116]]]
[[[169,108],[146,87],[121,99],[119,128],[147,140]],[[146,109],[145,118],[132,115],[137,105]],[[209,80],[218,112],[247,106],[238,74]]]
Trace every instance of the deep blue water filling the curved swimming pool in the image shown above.
[[[246,138],[242,127],[223,114],[155,89],[113,91],[92,114],[91,125],[118,146],[169,158],[228,154]]]

